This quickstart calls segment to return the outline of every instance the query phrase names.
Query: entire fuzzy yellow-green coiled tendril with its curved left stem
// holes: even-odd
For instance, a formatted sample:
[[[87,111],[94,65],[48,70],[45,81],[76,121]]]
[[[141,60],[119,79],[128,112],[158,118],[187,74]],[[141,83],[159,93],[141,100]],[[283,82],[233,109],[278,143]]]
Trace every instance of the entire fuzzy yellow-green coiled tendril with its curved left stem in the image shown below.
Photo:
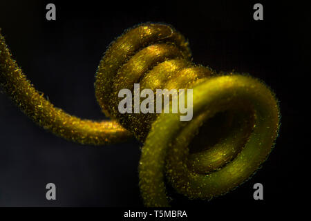
[[[211,199],[247,180],[269,155],[279,130],[279,106],[258,79],[191,62],[185,38],[171,26],[145,23],[126,30],[100,61],[95,95],[111,121],[68,115],[40,95],[12,59],[0,35],[0,83],[19,108],[45,129],[81,144],[144,142],[139,164],[146,206],[169,206],[166,182],[189,198]],[[178,114],[120,114],[117,93],[193,88],[194,118]],[[186,99],[187,100],[187,99]]]

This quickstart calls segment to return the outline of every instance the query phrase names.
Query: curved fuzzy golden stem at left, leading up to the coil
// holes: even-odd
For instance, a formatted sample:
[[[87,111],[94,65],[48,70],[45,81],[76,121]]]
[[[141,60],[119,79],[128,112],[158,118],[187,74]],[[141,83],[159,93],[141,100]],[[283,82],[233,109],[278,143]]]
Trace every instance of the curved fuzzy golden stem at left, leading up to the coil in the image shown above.
[[[117,121],[93,122],[55,108],[30,83],[12,59],[0,34],[0,84],[12,101],[35,123],[66,140],[80,144],[105,145],[129,140],[131,133]]]

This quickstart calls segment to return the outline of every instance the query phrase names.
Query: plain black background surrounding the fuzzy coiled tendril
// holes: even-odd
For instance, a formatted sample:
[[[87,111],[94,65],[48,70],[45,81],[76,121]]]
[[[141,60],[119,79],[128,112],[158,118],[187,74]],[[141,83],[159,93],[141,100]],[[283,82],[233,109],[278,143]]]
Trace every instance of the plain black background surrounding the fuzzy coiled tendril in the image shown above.
[[[55,3],[57,20],[46,21]],[[174,26],[189,39],[194,62],[216,71],[250,73],[269,85],[280,101],[276,147],[252,180],[211,202],[178,197],[179,206],[300,204],[308,192],[307,32],[303,4],[256,1],[196,3],[99,1],[1,1],[0,28],[19,66],[55,106],[88,119],[104,119],[94,95],[94,75],[106,47],[126,28],[153,21]],[[310,100],[310,99],[309,99]],[[301,109],[304,111],[301,111]],[[55,137],[0,94],[0,206],[142,206],[138,188],[139,142],[82,146]],[[46,200],[45,186],[57,186]],[[261,182],[264,199],[252,186]]]

